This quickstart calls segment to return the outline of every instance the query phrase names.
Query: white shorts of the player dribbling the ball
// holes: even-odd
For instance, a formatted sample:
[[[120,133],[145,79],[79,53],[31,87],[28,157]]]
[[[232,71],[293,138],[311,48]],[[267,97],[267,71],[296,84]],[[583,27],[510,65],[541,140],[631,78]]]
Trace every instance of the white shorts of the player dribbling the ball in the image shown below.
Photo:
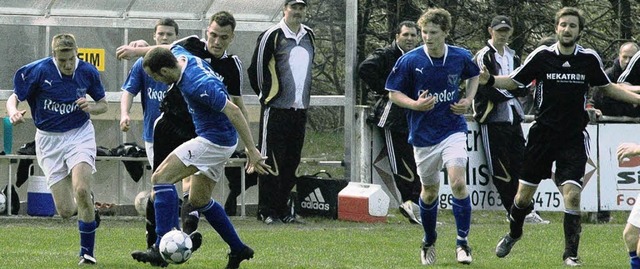
[[[237,145],[237,144],[236,144]],[[180,161],[186,166],[195,166],[199,172],[215,182],[224,175],[224,165],[231,158],[236,145],[225,147],[211,143],[211,141],[196,137],[173,150]]]

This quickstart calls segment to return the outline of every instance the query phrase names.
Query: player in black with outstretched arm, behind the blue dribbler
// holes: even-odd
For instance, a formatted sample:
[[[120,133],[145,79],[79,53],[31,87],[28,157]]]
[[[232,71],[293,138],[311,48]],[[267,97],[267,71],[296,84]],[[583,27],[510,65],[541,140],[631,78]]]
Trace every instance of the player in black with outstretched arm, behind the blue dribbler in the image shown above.
[[[211,68],[220,75],[220,80],[225,84],[227,92],[229,93],[231,101],[240,108],[245,119],[248,120],[248,114],[244,102],[242,100],[242,63],[236,55],[227,53],[227,48],[231,44],[234,38],[234,30],[236,21],[233,15],[226,11],[218,12],[211,16],[209,27],[207,28],[208,38],[200,39],[197,36],[188,36],[180,39],[174,43],[174,45],[180,45],[187,49],[193,55],[204,59],[211,64]],[[164,46],[171,47],[171,46]],[[118,58],[130,58],[133,56],[142,56],[152,47],[130,47],[122,46],[118,48]],[[186,103],[182,99],[182,95],[178,89],[171,89],[167,92],[165,100],[161,109],[163,110],[163,116],[158,120],[155,127],[154,144],[162,144],[163,146],[157,146],[154,148],[156,160],[154,160],[154,167],[157,167],[166,156],[173,151],[177,146],[183,142],[195,137],[195,129],[191,121],[191,116],[187,111]],[[166,117],[166,118],[164,118]],[[159,142],[159,140],[163,142]],[[183,190],[188,190],[188,179],[184,180]],[[185,201],[188,201],[188,194],[185,195]],[[216,206],[219,204],[216,202]],[[198,227],[199,213],[197,211],[191,211],[193,207],[185,202],[182,207],[181,219],[183,225],[183,231],[192,235],[195,242],[198,241],[198,246],[201,240],[201,235],[196,231]],[[149,247],[155,242],[155,213],[153,208],[153,201],[147,203],[147,244]],[[134,251],[132,256],[134,259],[146,262],[144,255],[141,255],[141,251]],[[253,254],[253,252],[251,253]],[[252,255],[251,255],[252,256]],[[238,253],[229,254],[229,264],[227,268],[237,268],[239,263],[248,259],[249,254],[244,253],[244,256],[238,255]],[[152,261],[149,261],[152,262]],[[153,262],[152,262],[153,264]],[[166,266],[165,264],[157,264]]]

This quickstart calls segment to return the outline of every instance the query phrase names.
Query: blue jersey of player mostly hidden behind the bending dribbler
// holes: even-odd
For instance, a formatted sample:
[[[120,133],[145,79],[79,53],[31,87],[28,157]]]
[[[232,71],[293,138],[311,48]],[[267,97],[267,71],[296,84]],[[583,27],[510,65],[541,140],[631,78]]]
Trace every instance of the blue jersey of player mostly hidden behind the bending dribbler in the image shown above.
[[[127,91],[133,96],[140,96],[143,112],[142,139],[147,142],[153,142],[153,123],[160,116],[160,103],[167,93],[167,84],[153,80],[142,68],[142,58],[138,59],[131,70],[127,80],[122,85],[122,90]]]

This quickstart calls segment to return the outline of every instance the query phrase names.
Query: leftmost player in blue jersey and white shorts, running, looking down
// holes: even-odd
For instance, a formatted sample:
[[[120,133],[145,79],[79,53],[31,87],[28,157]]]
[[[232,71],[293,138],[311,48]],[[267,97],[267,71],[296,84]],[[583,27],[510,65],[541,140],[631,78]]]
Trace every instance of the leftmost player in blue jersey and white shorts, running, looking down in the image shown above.
[[[107,111],[104,86],[98,70],[78,59],[71,34],[58,34],[52,41],[53,57],[21,67],[13,79],[14,92],[7,100],[12,124],[24,122],[27,101],[36,125],[36,157],[47,177],[58,214],[78,214],[79,264],[95,264],[96,228],[91,182],[96,171],[96,141],[90,115]],[[95,103],[87,100],[91,96]]]

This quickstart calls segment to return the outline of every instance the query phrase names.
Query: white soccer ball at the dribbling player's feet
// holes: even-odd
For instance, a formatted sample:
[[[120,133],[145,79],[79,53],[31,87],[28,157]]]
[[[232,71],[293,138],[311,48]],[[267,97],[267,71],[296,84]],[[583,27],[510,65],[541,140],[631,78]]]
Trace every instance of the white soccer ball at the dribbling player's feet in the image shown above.
[[[191,258],[193,243],[188,234],[172,230],[160,239],[160,255],[168,263],[180,264]]]

